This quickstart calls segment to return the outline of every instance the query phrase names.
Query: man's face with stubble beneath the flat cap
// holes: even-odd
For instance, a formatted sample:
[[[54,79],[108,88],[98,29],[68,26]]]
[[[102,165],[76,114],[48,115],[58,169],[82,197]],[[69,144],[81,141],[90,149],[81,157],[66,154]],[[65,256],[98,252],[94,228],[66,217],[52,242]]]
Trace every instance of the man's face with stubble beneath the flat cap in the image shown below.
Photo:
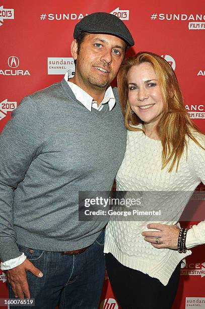
[[[77,60],[76,78],[82,88],[105,89],[115,78],[125,53],[125,42],[111,34],[85,36],[80,50],[73,42],[72,56]]]

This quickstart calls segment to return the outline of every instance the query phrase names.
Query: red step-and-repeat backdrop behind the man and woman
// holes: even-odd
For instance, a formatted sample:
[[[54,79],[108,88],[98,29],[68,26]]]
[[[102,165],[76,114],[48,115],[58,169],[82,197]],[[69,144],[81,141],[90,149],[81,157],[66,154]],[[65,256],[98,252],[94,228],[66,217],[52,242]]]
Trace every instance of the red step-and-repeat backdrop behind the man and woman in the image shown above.
[[[74,65],[70,45],[76,23],[87,14],[107,12],[132,33],[135,46],[128,56],[145,50],[170,63],[190,117],[205,132],[204,9],[204,0],[0,0],[0,131],[25,95],[60,81]],[[205,193],[204,186],[197,189]],[[174,309],[205,308],[204,245],[192,251],[181,270]],[[7,278],[0,271],[0,298],[7,297]],[[100,308],[119,308],[107,277]]]

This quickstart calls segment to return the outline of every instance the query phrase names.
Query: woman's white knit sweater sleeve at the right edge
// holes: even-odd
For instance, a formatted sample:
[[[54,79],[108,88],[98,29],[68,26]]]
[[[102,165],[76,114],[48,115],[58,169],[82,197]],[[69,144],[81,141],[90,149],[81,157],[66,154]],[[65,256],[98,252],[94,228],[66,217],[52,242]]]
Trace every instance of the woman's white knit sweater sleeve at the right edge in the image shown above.
[[[205,148],[205,136],[199,135],[199,143]],[[205,185],[205,150],[195,142],[190,141],[190,151],[188,152],[189,164],[193,175]],[[186,235],[187,249],[205,243],[205,220],[197,225],[193,225]]]

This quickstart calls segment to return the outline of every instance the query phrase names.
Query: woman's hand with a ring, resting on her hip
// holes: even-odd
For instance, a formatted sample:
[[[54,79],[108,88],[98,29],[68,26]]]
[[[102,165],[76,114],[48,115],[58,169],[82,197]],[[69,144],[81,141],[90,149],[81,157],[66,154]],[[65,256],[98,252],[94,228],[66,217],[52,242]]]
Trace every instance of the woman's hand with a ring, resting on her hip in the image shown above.
[[[150,223],[147,225],[148,229],[156,229],[159,231],[145,231],[142,232],[144,239],[151,243],[155,248],[169,248],[177,250],[178,236],[180,229],[177,225],[166,225],[161,223]],[[154,237],[154,238],[151,238]],[[160,239],[158,238],[160,237]],[[159,244],[156,242],[160,242]]]

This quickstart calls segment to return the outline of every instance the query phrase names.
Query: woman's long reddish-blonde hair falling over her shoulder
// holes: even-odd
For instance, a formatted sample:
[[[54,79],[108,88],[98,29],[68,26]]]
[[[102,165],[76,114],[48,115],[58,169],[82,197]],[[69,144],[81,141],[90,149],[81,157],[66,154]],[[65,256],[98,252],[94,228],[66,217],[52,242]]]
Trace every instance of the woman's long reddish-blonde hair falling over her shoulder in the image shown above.
[[[175,164],[177,171],[184,149],[187,151],[188,141],[186,137],[191,138],[199,147],[203,148],[195,137],[195,133],[203,133],[192,122],[185,109],[179,84],[172,67],[156,54],[140,52],[134,57],[125,59],[120,67],[117,86],[125,126],[128,130],[139,131],[141,129],[135,128],[133,125],[143,124],[143,121],[136,114],[131,113],[128,101],[127,73],[132,66],[144,62],[153,66],[163,98],[163,112],[156,126],[156,132],[163,147],[162,169],[170,163],[168,171],[171,172]]]

